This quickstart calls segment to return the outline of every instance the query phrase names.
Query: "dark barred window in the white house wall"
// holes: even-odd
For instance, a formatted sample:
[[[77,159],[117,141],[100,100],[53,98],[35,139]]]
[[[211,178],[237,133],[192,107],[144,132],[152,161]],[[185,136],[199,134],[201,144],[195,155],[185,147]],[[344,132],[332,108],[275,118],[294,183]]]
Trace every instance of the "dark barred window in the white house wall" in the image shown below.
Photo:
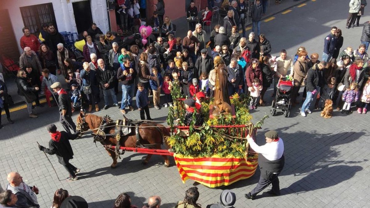
[[[20,10],[24,27],[30,28],[31,34],[34,34],[36,37],[38,37],[38,34],[42,30],[43,24],[53,23],[57,27],[53,3],[20,7]]]

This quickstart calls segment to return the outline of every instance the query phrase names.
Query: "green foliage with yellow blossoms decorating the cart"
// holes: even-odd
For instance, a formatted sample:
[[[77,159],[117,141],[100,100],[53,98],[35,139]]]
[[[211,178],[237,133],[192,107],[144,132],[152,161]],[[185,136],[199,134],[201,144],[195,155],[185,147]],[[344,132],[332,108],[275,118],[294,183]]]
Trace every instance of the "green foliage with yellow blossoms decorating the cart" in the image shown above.
[[[172,92],[171,92],[172,93]],[[184,137],[180,135],[180,130],[173,125],[174,115],[179,115],[179,106],[182,103],[176,103],[176,112],[170,108],[168,112],[168,124],[171,126],[173,134],[166,138],[168,144],[172,147],[174,152],[192,157],[211,157],[218,155],[226,157],[232,155],[234,157],[245,157],[246,140],[240,140],[234,137],[240,137],[240,132],[248,130],[248,127],[243,128],[212,128],[213,125],[246,125],[251,124],[252,115],[249,114],[247,104],[249,102],[248,96],[241,96],[235,94],[231,99],[231,104],[235,106],[236,118],[233,119],[231,115],[221,115],[220,117],[209,118],[209,107],[213,104],[213,100],[209,103],[202,103],[201,115],[204,123],[200,127],[194,128],[192,122],[189,127],[189,136]],[[183,108],[182,108],[183,110]],[[181,114],[184,115],[184,114]],[[195,114],[193,114],[193,121],[195,121]],[[265,116],[259,121],[258,127],[263,124],[263,121],[268,118]],[[257,125],[256,124],[256,125]]]

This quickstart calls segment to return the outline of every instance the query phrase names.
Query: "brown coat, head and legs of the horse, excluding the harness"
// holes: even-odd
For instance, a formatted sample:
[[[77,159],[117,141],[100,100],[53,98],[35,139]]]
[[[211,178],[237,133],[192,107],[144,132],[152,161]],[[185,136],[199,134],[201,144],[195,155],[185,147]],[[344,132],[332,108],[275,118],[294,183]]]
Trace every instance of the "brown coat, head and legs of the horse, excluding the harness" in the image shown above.
[[[102,123],[103,117],[94,115],[94,114],[85,114],[83,112],[80,113],[80,115],[77,117],[77,125],[81,126],[81,131],[87,131],[88,129],[93,130],[94,134],[97,133],[98,130],[94,130],[96,128],[99,128]],[[139,135],[141,138],[141,144],[142,145],[149,145],[152,149],[161,149],[162,141],[164,141],[164,137],[169,137],[169,131],[160,124],[156,124],[153,122],[143,122],[138,124],[139,125]],[[155,128],[158,127],[158,128]],[[111,127],[111,130],[109,131],[109,134],[114,134],[115,127]],[[133,131],[135,132],[135,127]],[[136,147],[136,136],[125,136],[120,139],[120,145],[122,147]],[[101,140],[99,141],[102,145],[116,145],[117,140],[114,137],[110,136],[103,136],[101,137]],[[166,143],[165,143],[166,144]],[[108,152],[109,156],[112,157],[113,163],[111,165],[111,168],[117,167],[117,157],[118,154],[110,149],[104,147],[105,150]],[[148,154],[147,157],[144,159],[142,164],[146,165],[148,164],[148,161],[152,157],[151,154]],[[164,158],[164,165],[166,167],[169,167],[169,161],[167,158],[167,155],[162,155]]]

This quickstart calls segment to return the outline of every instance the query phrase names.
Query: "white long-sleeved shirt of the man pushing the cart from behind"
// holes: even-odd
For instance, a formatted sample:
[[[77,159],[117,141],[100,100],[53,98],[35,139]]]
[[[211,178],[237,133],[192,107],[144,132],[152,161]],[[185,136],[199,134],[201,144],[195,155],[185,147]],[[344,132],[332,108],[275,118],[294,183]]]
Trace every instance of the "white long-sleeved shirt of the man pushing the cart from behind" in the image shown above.
[[[254,151],[261,153],[263,157],[270,161],[280,159],[284,153],[284,142],[281,138],[262,146],[258,146],[253,139],[248,139],[248,143]]]

